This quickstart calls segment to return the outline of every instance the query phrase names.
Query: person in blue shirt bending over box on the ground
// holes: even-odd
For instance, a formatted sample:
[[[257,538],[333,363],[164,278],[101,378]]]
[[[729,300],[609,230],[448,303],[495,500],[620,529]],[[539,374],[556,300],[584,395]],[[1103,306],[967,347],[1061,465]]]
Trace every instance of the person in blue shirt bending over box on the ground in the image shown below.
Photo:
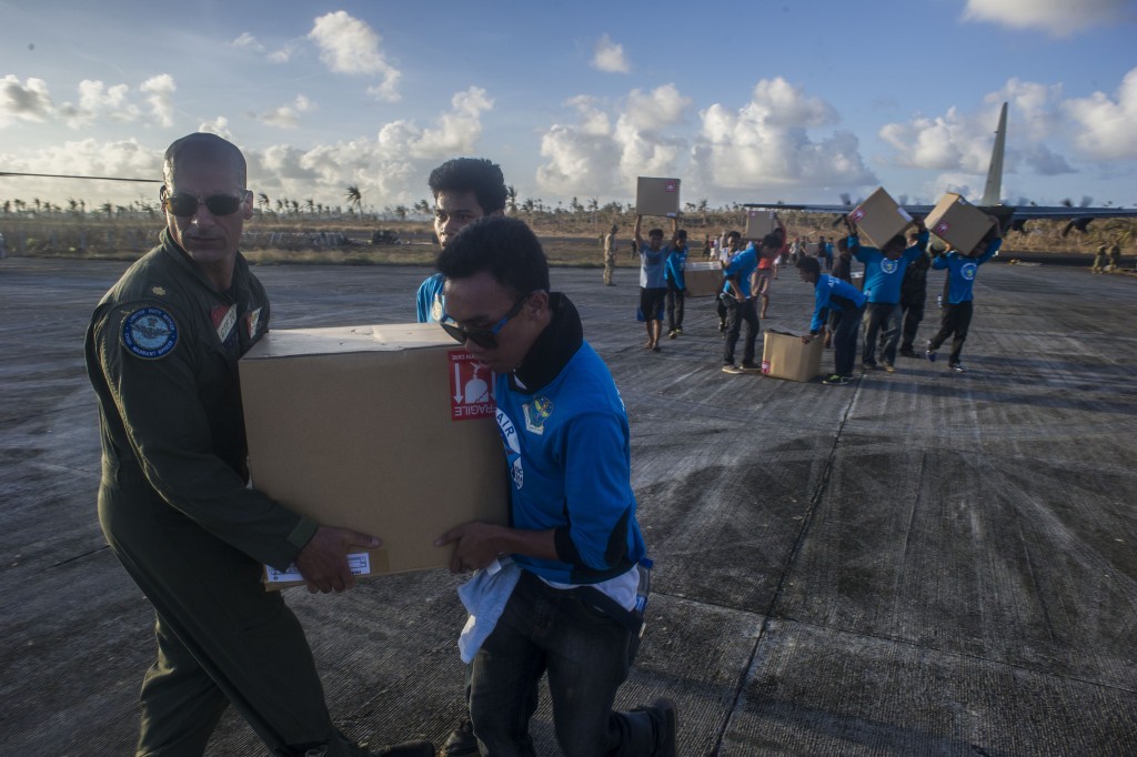
[[[804,257],[798,260],[797,273],[802,281],[813,284],[813,319],[810,322],[808,335],[802,336],[802,341],[808,344],[824,331],[825,322],[830,322],[833,331],[833,373],[821,383],[844,386],[853,377],[856,332],[865,297],[853,284],[821,273],[821,263],[816,258]],[[835,316],[832,319],[830,314]]]

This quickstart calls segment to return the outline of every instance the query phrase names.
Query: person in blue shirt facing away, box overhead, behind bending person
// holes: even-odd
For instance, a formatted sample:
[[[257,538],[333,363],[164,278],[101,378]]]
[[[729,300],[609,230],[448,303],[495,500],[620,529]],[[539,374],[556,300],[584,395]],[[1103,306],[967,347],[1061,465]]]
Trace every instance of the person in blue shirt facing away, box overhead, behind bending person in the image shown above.
[[[895,371],[896,348],[901,341],[901,284],[908,264],[924,253],[928,247],[928,230],[923,219],[916,218],[919,234],[916,243],[904,248],[904,234],[888,240],[883,248],[861,247],[856,227],[849,225],[849,250],[853,257],[864,264],[864,293],[869,302],[864,310],[864,347],[861,364],[872,369],[877,367],[877,338],[880,336],[880,367],[888,373]],[[881,334],[881,327],[883,333]]]

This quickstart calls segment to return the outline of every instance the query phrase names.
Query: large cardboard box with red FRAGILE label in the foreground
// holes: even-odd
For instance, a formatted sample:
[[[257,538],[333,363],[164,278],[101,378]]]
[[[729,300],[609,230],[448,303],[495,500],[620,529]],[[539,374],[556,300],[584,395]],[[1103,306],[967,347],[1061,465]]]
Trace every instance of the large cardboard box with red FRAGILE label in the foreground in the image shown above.
[[[446,566],[440,534],[506,522],[492,376],[438,324],[271,331],[239,366],[254,485],[382,539],[374,573]]]

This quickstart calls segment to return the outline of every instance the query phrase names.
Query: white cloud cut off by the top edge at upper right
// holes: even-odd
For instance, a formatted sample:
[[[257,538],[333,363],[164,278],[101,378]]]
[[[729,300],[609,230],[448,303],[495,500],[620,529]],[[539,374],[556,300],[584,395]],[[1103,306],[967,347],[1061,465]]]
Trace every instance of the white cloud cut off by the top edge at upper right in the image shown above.
[[[968,0],[963,17],[1069,36],[1131,17],[1132,13],[1131,0]]]

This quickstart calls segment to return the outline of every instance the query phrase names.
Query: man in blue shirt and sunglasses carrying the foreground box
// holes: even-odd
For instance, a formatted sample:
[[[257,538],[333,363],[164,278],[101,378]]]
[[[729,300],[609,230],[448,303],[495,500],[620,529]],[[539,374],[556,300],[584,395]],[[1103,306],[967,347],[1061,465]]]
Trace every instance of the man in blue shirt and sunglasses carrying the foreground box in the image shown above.
[[[573,303],[549,292],[545,253],[521,221],[472,224],[439,253],[438,269],[442,327],[497,376],[511,525],[467,523],[437,543],[455,544],[454,572],[485,568],[501,555],[513,559],[503,572],[520,568],[471,663],[470,715],[482,754],[533,754],[529,718],[548,673],[563,754],[673,757],[672,701],[612,709],[633,643],[620,617],[637,607],[646,555],[628,415],[612,375],[584,341]]]

